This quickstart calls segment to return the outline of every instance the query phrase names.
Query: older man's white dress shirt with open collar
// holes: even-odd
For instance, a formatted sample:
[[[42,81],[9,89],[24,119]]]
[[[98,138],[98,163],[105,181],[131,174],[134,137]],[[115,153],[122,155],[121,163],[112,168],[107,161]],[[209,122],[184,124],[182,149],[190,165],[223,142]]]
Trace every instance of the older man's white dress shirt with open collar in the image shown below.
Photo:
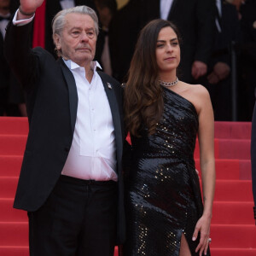
[[[117,181],[112,113],[96,63],[91,83],[85,78],[84,67],[70,60],[65,63],[73,73],[79,102],[73,143],[61,173],[81,179]]]

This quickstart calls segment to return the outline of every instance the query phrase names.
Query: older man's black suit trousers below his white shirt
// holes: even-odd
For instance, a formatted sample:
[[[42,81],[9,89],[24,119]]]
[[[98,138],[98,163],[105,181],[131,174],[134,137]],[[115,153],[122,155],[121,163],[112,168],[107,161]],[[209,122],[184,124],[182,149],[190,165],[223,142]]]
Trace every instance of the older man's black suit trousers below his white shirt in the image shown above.
[[[61,175],[49,198],[28,212],[31,256],[113,256],[117,183]]]

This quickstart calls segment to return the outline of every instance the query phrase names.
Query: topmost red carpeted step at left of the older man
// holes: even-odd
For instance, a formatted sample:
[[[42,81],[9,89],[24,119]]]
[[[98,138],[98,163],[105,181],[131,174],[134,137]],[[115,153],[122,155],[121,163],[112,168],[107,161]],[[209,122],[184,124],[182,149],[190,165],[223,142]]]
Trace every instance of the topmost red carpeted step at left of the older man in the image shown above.
[[[1,117],[0,134],[27,135],[28,121],[27,118],[19,117]]]

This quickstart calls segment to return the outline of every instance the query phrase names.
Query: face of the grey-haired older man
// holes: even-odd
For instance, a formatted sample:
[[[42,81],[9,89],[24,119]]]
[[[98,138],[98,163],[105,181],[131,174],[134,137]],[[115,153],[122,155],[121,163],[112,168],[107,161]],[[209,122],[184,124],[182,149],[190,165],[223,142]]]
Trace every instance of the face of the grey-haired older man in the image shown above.
[[[94,59],[96,30],[89,15],[68,14],[61,36],[55,35],[55,45],[62,57],[85,67]]]

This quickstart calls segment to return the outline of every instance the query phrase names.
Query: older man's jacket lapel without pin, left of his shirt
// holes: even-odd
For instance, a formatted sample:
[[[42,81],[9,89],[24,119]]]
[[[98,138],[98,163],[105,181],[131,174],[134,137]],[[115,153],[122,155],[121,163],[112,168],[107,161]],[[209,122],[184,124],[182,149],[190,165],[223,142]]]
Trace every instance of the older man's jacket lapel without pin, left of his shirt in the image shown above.
[[[67,88],[69,93],[71,129],[73,134],[74,126],[77,118],[77,111],[78,111],[78,102],[79,102],[78,90],[75,83],[75,79],[73,78],[73,73],[68,69],[68,67],[62,61],[61,58],[58,61],[61,64],[61,70],[67,82]]]

